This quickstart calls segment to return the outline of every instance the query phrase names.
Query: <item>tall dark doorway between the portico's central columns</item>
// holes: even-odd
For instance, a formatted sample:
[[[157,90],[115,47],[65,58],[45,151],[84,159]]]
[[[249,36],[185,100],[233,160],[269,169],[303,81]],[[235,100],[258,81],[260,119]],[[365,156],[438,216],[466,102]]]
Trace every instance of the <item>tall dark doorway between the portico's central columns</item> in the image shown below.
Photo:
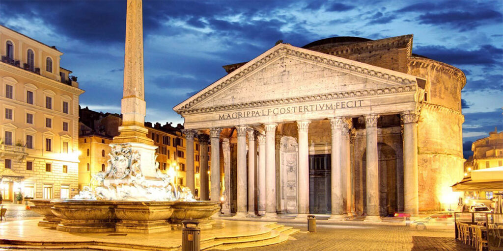
[[[330,155],[309,155],[309,213],[331,210]]]

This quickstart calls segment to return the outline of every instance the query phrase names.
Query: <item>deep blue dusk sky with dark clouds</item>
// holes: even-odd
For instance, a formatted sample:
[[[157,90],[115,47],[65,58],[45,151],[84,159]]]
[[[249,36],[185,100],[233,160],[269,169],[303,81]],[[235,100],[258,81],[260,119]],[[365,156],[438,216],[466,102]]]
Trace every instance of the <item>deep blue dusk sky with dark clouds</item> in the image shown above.
[[[503,1],[143,1],[146,121],[181,123],[172,107],[278,40],[413,34],[415,54],[466,74],[463,147],[503,129]],[[56,46],[80,104],[120,112],[126,3],[0,1],[0,24]]]

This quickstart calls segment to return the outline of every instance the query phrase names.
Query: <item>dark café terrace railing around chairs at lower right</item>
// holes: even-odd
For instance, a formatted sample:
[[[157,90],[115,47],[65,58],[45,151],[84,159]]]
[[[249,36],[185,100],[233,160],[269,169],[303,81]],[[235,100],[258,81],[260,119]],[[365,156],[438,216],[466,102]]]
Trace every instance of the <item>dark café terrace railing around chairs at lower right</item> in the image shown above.
[[[459,225],[483,226],[482,239],[487,241],[488,250],[503,250],[503,214],[502,213],[477,213],[477,212],[455,212],[455,234],[460,239]],[[462,238],[462,237],[461,237]]]

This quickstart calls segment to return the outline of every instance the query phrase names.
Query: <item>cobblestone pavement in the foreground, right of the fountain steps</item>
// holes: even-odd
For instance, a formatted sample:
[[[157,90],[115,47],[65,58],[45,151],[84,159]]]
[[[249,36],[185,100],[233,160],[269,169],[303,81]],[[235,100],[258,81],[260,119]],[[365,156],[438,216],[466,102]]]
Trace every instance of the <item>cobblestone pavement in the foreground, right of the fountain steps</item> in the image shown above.
[[[232,251],[296,251],[296,250],[383,250],[383,251],[473,251],[471,246],[454,238],[454,229],[418,231],[405,226],[330,225],[318,226],[317,231],[306,232],[306,227],[292,225],[301,232],[287,242],[252,248],[234,248]]]

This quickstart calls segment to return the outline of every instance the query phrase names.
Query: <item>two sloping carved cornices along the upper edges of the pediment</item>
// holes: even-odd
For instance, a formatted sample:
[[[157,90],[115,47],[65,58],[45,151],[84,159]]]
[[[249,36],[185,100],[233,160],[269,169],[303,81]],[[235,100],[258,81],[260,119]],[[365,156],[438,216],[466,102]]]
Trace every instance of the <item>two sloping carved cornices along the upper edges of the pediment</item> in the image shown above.
[[[295,57],[307,61],[314,62],[316,64],[328,66],[330,68],[341,69],[343,71],[349,71],[356,73],[361,76],[365,76],[368,78],[374,78],[377,81],[387,82],[390,84],[394,84],[397,86],[406,86],[406,85],[417,85],[416,76],[412,76],[409,74],[392,71],[389,69],[340,58],[337,56],[332,56],[328,54],[324,54],[321,52],[315,52],[307,49],[302,49],[299,47],[294,47],[288,44],[279,44],[267,52],[263,53],[261,56],[251,60],[245,65],[239,67],[237,70],[231,72],[230,74],[224,76],[222,79],[217,82],[211,84],[200,92],[196,93],[192,97],[188,98],[184,102],[178,104],[173,109],[179,114],[187,114],[190,110],[194,112],[194,109],[197,104],[203,102],[207,98],[211,97],[213,94],[219,92],[220,90],[226,88],[227,86],[235,83],[238,80],[243,79],[249,73],[261,68],[262,66],[268,64],[269,62],[281,57],[281,56],[290,56]],[[385,88],[389,89],[389,88]],[[383,90],[384,91],[384,90]],[[389,91],[389,90],[388,90]],[[325,95],[325,94],[321,94]],[[289,98],[292,99],[292,98]],[[264,103],[266,101],[258,101],[253,103]],[[250,103],[251,104],[251,103]],[[237,104],[226,105],[226,106],[235,106]],[[194,107],[194,108],[193,108]],[[215,108],[215,107],[212,107]],[[211,108],[201,108],[201,109],[211,109]]]

